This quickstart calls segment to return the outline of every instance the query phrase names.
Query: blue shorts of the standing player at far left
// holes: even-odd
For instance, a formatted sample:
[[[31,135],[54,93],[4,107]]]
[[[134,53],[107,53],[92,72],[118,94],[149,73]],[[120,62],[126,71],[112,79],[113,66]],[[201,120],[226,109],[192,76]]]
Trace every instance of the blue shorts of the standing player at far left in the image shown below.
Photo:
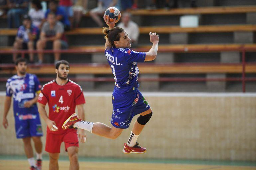
[[[39,113],[21,115],[15,114],[16,138],[43,136]]]

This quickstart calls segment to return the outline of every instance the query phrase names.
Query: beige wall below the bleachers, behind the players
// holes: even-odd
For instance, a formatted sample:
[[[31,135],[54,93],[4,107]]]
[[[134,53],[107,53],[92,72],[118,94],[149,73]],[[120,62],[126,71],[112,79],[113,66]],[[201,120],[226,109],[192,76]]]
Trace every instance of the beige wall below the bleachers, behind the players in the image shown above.
[[[2,93],[3,94],[3,93]],[[116,140],[87,133],[79,155],[88,157],[140,157],[159,159],[256,160],[256,94],[144,93],[153,116],[138,138],[148,151],[122,153],[131,128]],[[111,93],[85,93],[88,121],[110,125]],[[3,111],[4,94],[0,96]],[[48,110],[48,108],[47,108]],[[0,117],[2,122],[2,116]],[[0,154],[24,155],[15,138],[13,112],[8,130],[0,128]],[[135,119],[133,120],[133,122]],[[132,124],[133,124],[132,122]],[[45,132],[46,125],[43,123]],[[132,125],[131,124],[131,125]],[[45,146],[45,136],[42,138]],[[44,154],[46,152],[44,151]],[[62,144],[61,155],[64,152]]]

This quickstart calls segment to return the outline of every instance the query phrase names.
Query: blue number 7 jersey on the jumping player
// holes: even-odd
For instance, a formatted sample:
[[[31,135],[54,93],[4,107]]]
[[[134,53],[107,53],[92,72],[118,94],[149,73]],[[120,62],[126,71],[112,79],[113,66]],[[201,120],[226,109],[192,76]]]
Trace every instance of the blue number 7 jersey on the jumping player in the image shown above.
[[[110,48],[105,56],[112,69],[115,88],[121,93],[136,91],[139,87],[137,62],[144,62],[146,54],[129,48]]]

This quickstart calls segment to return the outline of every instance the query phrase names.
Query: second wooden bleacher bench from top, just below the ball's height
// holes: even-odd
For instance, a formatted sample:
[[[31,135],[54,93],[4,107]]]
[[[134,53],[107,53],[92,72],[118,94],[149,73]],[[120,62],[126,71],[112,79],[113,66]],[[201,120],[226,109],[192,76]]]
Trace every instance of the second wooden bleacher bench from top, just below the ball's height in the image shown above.
[[[256,25],[209,25],[199,27],[181,28],[179,26],[150,26],[140,27],[141,34],[148,34],[149,32],[157,33],[200,33],[200,32],[235,32],[235,31],[256,31]],[[17,29],[0,29],[0,35],[16,35]],[[102,34],[102,28],[75,28],[71,31],[65,32],[66,35],[99,35]]]

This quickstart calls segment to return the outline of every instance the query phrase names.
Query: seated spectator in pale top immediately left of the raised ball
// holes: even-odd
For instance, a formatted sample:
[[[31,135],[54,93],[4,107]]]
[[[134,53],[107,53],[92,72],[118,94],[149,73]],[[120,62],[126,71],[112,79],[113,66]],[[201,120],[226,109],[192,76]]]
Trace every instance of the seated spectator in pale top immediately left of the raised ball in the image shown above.
[[[90,16],[98,24],[98,26],[103,27],[102,16],[107,8],[115,6],[117,0],[98,0],[98,7],[90,10]]]

